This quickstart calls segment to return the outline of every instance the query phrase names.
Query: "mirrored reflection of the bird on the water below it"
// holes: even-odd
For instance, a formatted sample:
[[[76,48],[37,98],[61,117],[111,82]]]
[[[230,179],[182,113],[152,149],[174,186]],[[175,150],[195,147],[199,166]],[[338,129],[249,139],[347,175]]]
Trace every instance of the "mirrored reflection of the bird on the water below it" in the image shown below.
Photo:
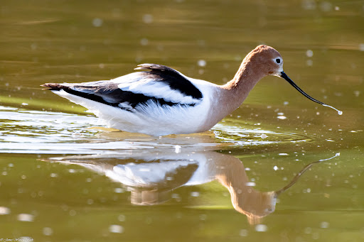
[[[50,158],[50,161],[81,165],[122,183],[132,192],[131,202],[136,205],[161,204],[171,198],[171,191],[177,187],[217,180],[230,192],[234,209],[245,214],[250,224],[258,224],[274,211],[279,194],[294,185],[312,165],[323,160],[306,165],[285,187],[272,192],[252,187],[241,160],[214,151],[143,153],[138,150],[138,154],[68,156]]]

